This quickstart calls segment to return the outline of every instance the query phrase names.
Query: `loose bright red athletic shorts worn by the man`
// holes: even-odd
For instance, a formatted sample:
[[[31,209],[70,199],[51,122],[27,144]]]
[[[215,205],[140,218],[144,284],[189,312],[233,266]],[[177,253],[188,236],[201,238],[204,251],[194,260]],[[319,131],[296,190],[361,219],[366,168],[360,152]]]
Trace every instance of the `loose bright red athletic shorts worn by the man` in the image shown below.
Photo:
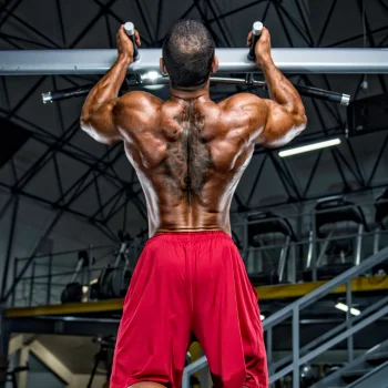
[[[110,387],[181,387],[192,331],[216,387],[268,387],[257,295],[224,232],[147,241],[124,300]]]

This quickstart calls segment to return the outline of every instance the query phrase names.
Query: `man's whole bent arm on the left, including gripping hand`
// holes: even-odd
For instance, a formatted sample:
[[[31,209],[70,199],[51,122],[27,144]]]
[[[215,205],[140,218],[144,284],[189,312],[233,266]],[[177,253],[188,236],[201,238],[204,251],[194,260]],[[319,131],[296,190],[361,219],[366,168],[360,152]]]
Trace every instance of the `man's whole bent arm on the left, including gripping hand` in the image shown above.
[[[135,32],[136,44],[141,45]],[[114,110],[120,104],[119,91],[124,82],[127,67],[133,62],[133,44],[122,25],[118,32],[119,57],[110,71],[95,84],[82,108],[81,129],[103,144],[122,140],[115,123]]]

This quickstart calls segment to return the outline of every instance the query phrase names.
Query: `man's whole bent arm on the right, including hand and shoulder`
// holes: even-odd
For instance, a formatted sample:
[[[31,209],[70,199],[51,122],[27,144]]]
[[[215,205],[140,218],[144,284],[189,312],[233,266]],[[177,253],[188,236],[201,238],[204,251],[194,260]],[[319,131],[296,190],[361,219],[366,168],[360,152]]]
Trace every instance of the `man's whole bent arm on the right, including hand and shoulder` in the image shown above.
[[[248,37],[248,45],[251,34]],[[256,62],[262,68],[272,100],[246,94],[241,109],[249,116],[254,141],[266,147],[290,142],[307,123],[305,108],[293,84],[276,68],[270,55],[270,37],[263,29],[255,47]]]

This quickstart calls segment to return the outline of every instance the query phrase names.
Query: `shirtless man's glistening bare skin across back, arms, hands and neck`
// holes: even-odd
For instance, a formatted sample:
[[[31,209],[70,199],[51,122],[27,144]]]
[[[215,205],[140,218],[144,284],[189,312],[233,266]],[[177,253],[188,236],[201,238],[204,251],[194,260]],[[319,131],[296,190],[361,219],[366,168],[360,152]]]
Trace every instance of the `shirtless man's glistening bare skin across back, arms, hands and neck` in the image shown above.
[[[137,34],[136,40],[140,44]],[[231,202],[255,145],[284,145],[306,126],[299,94],[272,60],[268,31],[264,29],[256,44],[256,58],[272,100],[239,93],[217,104],[208,82],[192,91],[171,88],[165,102],[140,91],[118,98],[133,60],[123,28],[118,48],[118,61],[85,101],[81,127],[104,144],[123,141],[145,194],[150,236],[231,234]]]

